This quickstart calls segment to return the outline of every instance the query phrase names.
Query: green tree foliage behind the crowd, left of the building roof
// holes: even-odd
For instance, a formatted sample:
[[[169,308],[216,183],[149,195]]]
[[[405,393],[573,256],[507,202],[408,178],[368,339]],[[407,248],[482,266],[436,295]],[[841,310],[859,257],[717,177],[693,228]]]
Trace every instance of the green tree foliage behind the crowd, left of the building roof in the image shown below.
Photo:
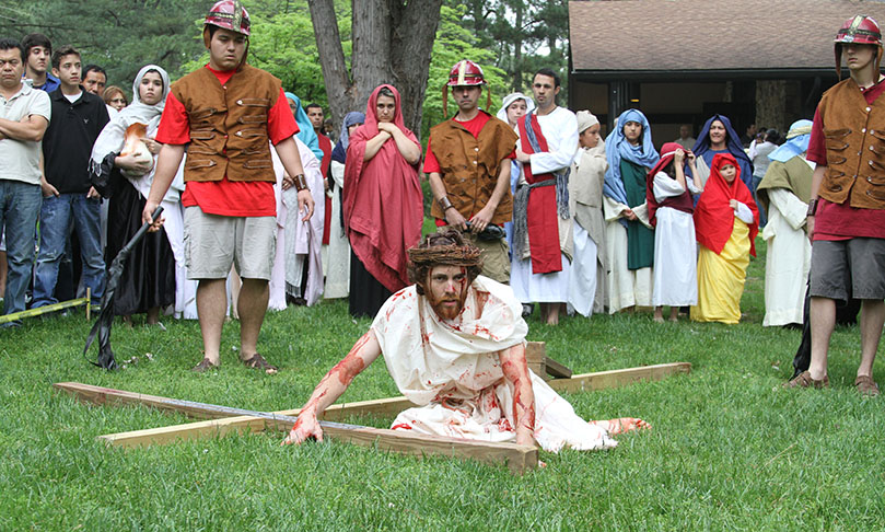
[[[409,127],[420,131],[421,138],[443,119],[442,86],[461,59],[482,66],[493,94],[492,108],[487,109],[491,113],[504,94],[527,90],[532,73],[540,67],[558,69],[566,79],[567,0],[359,1],[362,10],[386,13],[370,31],[389,32],[384,46],[407,56],[400,58],[407,62],[397,59],[386,69],[377,61],[369,65],[379,49],[365,39],[376,36],[363,28],[362,50],[354,45],[354,27],[368,21],[361,11],[362,19],[354,22],[351,0],[246,0],[253,22],[249,62],[280,78],[283,88],[304,103],[331,107],[337,124],[348,111],[364,111],[375,85],[393,82],[403,92],[404,114],[418,120]],[[316,26],[312,21],[311,9],[317,4],[331,10],[337,32],[328,22]],[[415,5],[414,12],[407,12],[409,4]],[[108,83],[128,92],[132,78],[148,62],[162,66],[176,79],[208,61],[200,28],[209,5],[211,0],[14,0],[0,4],[0,35],[21,38],[39,32],[56,46],[72,44],[84,63],[101,65],[108,72]],[[433,19],[434,10],[439,24],[412,23]],[[421,27],[431,27],[435,38],[423,58],[412,57],[421,51],[408,37]],[[340,66],[328,68],[321,61],[317,43],[334,34]],[[369,58],[352,60],[354,49]],[[423,60],[429,60],[427,70],[420,67]],[[406,85],[410,89],[404,91]],[[345,103],[330,105],[336,97]],[[485,104],[484,94],[480,105]],[[450,116],[455,111],[454,102],[450,103]]]

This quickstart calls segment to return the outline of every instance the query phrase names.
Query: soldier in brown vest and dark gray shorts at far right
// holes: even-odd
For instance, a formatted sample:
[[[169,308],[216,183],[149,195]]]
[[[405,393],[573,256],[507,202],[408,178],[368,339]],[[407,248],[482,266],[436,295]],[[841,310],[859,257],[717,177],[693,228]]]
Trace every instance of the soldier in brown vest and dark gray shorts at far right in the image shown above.
[[[850,77],[824,93],[812,126],[807,229],[812,239],[812,360],[788,388],[829,385],[827,355],[836,301],[861,300],[861,363],[854,385],[877,395],[873,361],[885,323],[885,83],[882,33],[854,16],[836,35],[836,72],[846,57]]]

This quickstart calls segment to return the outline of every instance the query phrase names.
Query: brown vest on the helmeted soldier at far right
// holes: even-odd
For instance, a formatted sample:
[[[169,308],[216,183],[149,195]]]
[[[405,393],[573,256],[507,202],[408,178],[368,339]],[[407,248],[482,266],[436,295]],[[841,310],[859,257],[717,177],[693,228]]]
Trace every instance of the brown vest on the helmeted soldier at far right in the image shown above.
[[[885,97],[867,104],[851,78],[824,93],[818,105],[827,170],[817,195],[851,207],[885,209]]]

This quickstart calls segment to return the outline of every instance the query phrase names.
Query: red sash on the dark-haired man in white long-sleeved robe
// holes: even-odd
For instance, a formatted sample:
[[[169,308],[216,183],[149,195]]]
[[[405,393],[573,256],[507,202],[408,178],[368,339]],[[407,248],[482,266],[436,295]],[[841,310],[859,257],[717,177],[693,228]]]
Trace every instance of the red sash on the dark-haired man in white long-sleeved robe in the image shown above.
[[[519,120],[520,142],[525,153],[535,153],[528,142],[525,124],[532,115],[525,115]],[[549,151],[547,139],[540,132],[537,117],[531,122],[532,130],[538,140],[542,152]],[[539,186],[528,193],[528,207],[526,208],[526,224],[528,230],[528,251],[532,256],[533,274],[551,274],[562,271],[562,255],[559,250],[559,217],[556,205],[556,176],[554,174],[532,174],[532,164],[524,164],[525,181],[533,185],[545,181],[552,181],[549,186]]]

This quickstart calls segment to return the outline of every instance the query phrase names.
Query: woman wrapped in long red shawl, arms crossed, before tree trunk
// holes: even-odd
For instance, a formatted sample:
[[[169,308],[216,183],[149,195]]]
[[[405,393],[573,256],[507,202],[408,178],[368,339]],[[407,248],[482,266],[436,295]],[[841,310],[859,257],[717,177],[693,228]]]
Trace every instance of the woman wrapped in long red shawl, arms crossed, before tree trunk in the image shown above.
[[[353,131],[345,165],[345,228],[352,250],[350,313],[374,317],[407,286],[406,250],[418,244],[423,194],[421,146],[403,122],[399,92],[388,84],[369,97],[365,124]]]

